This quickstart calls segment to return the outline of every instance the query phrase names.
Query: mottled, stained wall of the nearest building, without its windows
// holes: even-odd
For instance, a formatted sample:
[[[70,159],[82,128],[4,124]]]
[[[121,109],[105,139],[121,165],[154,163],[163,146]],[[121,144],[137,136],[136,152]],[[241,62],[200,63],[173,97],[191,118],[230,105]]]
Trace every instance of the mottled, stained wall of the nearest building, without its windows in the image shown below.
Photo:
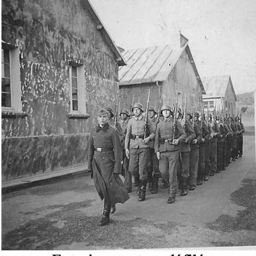
[[[6,138],[2,140],[3,179],[13,179],[15,173],[22,177],[37,171],[83,164],[85,158],[79,155],[72,157],[80,162],[74,163],[68,158],[65,164],[49,163],[63,157],[63,150],[52,150],[53,140],[63,135],[61,145],[75,143],[68,148],[74,146],[86,152],[84,136],[96,124],[93,115],[100,107],[113,104],[118,92],[116,57],[97,30],[84,1],[3,0],[2,38],[7,43],[19,45],[22,110],[27,113],[22,118],[2,118],[2,138]],[[67,116],[70,113],[69,61],[84,65],[83,90],[90,118]],[[81,140],[70,140],[65,134],[77,134]],[[49,138],[46,140],[44,136]],[[26,153],[20,153],[34,156],[28,157],[22,173],[19,165],[6,164],[10,162],[10,154],[15,152],[12,148],[15,145],[19,148],[21,144]],[[37,151],[32,152],[35,148]],[[20,159],[24,157],[22,154]],[[38,164],[36,170],[32,170],[36,157],[44,159],[40,163],[49,164]],[[20,164],[20,161],[14,162]]]

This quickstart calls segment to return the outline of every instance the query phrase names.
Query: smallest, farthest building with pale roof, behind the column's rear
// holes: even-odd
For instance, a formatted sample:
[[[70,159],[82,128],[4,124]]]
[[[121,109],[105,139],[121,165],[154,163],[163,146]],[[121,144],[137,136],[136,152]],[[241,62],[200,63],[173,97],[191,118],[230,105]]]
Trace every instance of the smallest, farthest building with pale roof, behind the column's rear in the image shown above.
[[[222,111],[224,114],[236,114],[236,93],[232,84],[231,77],[212,76],[202,79],[206,94],[203,96],[205,111]]]

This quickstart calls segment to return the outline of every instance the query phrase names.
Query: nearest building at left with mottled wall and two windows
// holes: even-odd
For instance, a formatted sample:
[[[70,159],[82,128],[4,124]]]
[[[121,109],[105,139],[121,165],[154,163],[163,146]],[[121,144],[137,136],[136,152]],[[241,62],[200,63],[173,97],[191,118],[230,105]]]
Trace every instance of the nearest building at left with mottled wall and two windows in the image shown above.
[[[3,0],[2,180],[84,168],[122,65],[88,0]]]

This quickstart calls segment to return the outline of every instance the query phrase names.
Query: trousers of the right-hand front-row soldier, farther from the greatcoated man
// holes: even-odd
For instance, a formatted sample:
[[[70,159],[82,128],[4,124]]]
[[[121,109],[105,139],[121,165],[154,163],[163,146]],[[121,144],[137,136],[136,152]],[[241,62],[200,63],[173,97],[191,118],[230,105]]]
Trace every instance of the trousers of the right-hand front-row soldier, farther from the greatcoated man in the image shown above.
[[[159,170],[163,179],[169,184],[169,196],[177,193],[177,170],[179,168],[179,150],[161,152]]]

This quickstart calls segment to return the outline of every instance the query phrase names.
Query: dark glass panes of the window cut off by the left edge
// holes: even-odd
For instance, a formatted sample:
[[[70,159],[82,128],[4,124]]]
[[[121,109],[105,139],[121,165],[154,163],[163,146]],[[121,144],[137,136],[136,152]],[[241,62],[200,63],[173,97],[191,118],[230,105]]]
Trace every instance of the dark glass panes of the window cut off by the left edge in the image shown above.
[[[11,108],[10,51],[2,49],[2,107]]]

